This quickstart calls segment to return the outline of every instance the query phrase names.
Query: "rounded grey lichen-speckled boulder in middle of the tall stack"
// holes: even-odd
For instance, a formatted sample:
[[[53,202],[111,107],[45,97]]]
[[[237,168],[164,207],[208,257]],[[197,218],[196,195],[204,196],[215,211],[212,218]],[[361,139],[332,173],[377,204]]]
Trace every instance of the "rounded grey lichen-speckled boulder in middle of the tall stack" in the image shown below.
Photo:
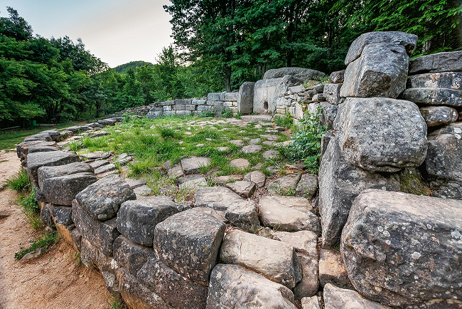
[[[347,162],[371,172],[418,167],[426,157],[425,120],[412,102],[347,98],[334,129]]]

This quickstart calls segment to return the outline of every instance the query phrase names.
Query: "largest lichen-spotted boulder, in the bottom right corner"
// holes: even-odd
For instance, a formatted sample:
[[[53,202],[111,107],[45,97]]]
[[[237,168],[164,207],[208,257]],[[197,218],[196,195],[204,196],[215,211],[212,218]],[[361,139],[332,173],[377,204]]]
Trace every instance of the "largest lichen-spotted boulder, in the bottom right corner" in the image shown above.
[[[404,307],[462,298],[462,201],[368,189],[355,199],[340,251],[367,298]]]

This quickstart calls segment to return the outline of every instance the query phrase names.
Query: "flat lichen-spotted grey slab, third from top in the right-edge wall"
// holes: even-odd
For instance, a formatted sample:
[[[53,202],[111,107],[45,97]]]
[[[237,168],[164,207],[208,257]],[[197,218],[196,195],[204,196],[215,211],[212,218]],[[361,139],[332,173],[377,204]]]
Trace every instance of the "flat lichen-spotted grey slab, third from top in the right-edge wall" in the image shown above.
[[[404,90],[402,98],[417,105],[448,105],[453,108],[462,106],[462,90],[409,88]]]

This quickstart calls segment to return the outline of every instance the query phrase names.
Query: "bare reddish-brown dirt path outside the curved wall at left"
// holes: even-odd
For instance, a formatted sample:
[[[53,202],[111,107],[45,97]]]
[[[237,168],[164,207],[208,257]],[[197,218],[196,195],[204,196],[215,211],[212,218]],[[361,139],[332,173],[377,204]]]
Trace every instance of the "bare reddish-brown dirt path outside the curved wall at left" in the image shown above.
[[[0,184],[20,169],[16,151],[0,152]],[[27,247],[35,232],[15,204],[16,192],[0,191],[0,309],[110,308],[110,294],[96,270],[79,266],[75,249],[60,241],[40,258],[23,263],[14,253]]]

